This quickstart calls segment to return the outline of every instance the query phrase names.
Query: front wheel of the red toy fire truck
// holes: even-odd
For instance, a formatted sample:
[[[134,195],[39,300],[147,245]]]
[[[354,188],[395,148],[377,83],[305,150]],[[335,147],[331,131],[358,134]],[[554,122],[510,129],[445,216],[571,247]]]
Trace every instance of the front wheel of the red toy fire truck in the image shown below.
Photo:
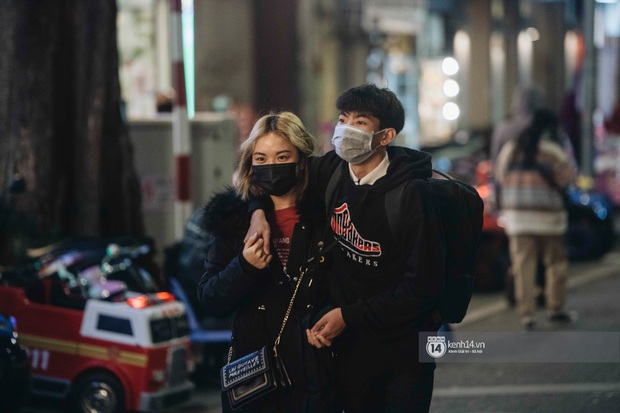
[[[79,413],[122,413],[125,392],[121,382],[108,373],[82,377],[75,385],[71,404]]]

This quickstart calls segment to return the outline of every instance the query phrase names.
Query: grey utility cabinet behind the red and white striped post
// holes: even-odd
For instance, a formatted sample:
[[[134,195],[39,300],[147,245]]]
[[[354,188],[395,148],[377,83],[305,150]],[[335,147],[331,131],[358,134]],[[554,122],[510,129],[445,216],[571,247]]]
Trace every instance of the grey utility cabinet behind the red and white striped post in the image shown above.
[[[175,241],[175,163],[172,153],[172,118],[135,120],[130,124],[134,161],[142,184],[146,235],[163,249]],[[232,183],[238,147],[236,124],[220,113],[197,113],[191,121],[191,191],[193,208]]]

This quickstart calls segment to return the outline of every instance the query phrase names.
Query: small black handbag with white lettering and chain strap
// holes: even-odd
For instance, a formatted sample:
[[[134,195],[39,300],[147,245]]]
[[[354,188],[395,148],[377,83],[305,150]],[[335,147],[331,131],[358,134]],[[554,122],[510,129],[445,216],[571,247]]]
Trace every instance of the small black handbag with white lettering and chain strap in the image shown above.
[[[228,396],[230,407],[233,410],[291,387],[292,384],[286,367],[278,356],[278,345],[304,274],[305,270],[299,275],[295,291],[288,304],[280,332],[272,349],[263,346],[260,350],[231,361],[232,346],[229,348],[228,364],[221,369],[221,382],[222,391]]]

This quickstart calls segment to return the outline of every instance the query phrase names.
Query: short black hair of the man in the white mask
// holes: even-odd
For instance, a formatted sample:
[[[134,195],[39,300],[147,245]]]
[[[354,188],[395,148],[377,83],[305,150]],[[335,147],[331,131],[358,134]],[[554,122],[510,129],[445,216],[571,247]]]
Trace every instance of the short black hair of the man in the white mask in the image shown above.
[[[394,128],[399,133],[405,125],[405,110],[394,92],[373,84],[353,87],[336,100],[340,113],[360,112],[379,119],[379,129]],[[377,131],[378,132],[378,131]]]

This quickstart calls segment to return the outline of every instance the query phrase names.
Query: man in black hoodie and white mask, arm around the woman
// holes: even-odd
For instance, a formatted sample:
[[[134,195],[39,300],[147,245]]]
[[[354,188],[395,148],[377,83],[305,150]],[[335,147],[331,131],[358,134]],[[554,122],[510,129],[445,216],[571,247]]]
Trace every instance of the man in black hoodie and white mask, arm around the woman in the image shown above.
[[[431,156],[388,147],[404,125],[401,102],[389,89],[363,85],[336,101],[335,151],[313,159],[310,189],[330,199],[337,239],[328,283],[334,309],[307,331],[336,354],[338,397],[347,413],[427,412],[434,363],[420,363],[419,333],[436,332],[443,288],[444,240],[427,178]],[[337,168],[340,180],[328,194]],[[386,194],[404,185],[392,231]],[[331,190],[330,190],[331,191]],[[249,233],[261,229],[255,212]],[[326,244],[331,240],[328,238]],[[268,245],[268,242],[265,243]]]

